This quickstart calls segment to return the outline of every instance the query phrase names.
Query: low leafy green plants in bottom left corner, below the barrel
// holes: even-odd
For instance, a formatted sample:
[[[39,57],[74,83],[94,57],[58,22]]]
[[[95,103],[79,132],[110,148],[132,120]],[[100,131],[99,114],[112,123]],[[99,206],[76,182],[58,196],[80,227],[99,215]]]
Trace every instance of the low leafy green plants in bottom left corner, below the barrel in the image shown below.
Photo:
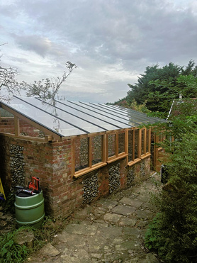
[[[26,259],[30,249],[26,245],[21,246],[14,242],[14,237],[18,234],[19,230],[0,236],[0,262],[19,263],[24,262]]]

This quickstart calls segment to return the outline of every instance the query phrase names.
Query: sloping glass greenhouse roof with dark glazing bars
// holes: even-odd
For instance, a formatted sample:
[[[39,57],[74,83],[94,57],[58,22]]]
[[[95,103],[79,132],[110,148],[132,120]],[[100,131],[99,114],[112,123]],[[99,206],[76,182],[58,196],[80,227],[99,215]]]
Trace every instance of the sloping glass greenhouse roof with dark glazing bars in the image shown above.
[[[9,102],[0,103],[1,108],[18,118],[25,118],[26,121],[38,124],[60,137],[166,122],[130,108],[101,103],[43,101],[35,97],[18,96],[13,96]]]

